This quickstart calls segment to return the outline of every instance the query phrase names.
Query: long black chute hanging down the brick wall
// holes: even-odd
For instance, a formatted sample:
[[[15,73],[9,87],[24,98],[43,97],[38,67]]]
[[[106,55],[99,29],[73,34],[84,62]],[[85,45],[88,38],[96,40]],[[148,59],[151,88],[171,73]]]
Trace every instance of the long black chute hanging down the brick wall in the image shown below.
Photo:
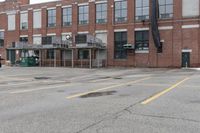
[[[161,48],[160,33],[158,30],[158,3],[157,0],[152,0],[152,15],[151,15],[151,31],[153,41],[157,49]]]

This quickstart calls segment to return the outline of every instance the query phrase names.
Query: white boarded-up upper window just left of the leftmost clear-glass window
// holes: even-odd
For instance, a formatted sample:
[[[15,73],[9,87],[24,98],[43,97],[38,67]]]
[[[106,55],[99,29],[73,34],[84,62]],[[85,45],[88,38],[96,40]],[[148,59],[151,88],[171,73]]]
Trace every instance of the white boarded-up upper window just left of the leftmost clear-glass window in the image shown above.
[[[41,10],[33,12],[33,28],[41,28]]]

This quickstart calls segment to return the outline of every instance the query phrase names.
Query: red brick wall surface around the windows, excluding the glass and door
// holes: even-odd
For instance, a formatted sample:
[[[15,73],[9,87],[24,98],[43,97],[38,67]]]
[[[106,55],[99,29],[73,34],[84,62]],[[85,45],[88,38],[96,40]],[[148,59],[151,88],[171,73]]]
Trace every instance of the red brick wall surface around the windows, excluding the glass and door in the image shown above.
[[[27,4],[29,0],[21,0],[23,4]],[[157,49],[154,46],[151,30],[149,30],[149,53],[134,53],[130,51],[127,59],[116,60],[114,59],[114,30],[127,29],[128,43],[134,44],[135,42],[135,28],[149,28],[150,22],[145,23],[134,21],[134,0],[128,0],[128,21],[123,24],[114,24],[113,19],[113,5],[114,0],[108,0],[108,22],[106,24],[95,23],[95,3],[89,2],[89,24],[80,26],[78,25],[78,4],[88,2],[88,0],[80,0],[77,2],[71,1],[56,1],[36,5],[24,5],[22,10],[28,10],[28,30],[20,31],[19,27],[19,13],[16,15],[16,31],[7,31],[7,15],[0,14],[0,19],[5,20],[0,23],[0,29],[5,29],[5,43],[8,47],[13,41],[18,41],[20,35],[29,35],[29,43],[32,42],[33,34],[42,34],[46,36],[48,33],[56,33],[60,36],[62,32],[72,32],[74,35],[77,32],[88,31],[90,34],[95,35],[96,30],[107,30],[108,44],[107,44],[107,63],[109,66],[133,66],[133,67],[181,67],[182,49],[192,49],[191,52],[191,66],[200,66],[200,29],[190,28],[182,29],[182,25],[200,24],[198,18],[182,18],[182,0],[174,0],[174,17],[169,20],[159,20],[159,26],[173,26],[173,29],[160,30],[161,40],[164,40],[163,53],[157,54]],[[7,11],[8,8],[13,7],[9,2],[3,3],[0,11]],[[62,6],[72,5],[72,26],[62,27]],[[47,8],[55,7],[57,10],[57,19],[55,28],[47,28]],[[33,9],[42,9],[42,28],[33,29]],[[5,58],[5,48],[0,48]],[[76,52],[74,55],[77,58]]]

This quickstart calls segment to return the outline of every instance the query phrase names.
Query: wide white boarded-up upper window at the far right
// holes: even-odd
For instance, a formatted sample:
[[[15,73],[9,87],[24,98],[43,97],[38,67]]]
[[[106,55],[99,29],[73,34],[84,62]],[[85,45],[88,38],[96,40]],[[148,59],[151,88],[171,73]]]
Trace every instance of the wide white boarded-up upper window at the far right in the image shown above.
[[[199,0],[182,0],[183,17],[199,16]]]

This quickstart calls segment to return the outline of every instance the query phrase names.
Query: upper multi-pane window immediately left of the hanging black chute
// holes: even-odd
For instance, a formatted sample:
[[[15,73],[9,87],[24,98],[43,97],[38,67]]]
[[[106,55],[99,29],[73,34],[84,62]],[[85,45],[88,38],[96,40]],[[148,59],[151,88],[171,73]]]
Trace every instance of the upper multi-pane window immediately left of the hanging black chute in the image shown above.
[[[149,19],[149,0],[135,0],[135,10],[136,20]]]

